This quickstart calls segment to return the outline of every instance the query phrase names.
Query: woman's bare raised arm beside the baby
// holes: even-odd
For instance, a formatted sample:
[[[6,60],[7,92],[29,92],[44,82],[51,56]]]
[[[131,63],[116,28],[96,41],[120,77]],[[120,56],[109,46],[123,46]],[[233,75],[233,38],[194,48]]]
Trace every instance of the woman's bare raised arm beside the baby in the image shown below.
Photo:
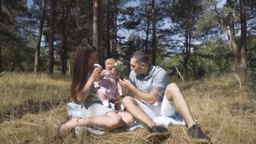
[[[93,85],[95,78],[101,74],[101,71],[102,71],[101,67],[97,67],[93,70],[91,77],[89,78],[89,80],[87,81],[83,89],[77,94],[77,101],[79,103],[82,103],[83,101],[85,101],[85,99],[87,98],[87,96],[91,91],[91,86]]]

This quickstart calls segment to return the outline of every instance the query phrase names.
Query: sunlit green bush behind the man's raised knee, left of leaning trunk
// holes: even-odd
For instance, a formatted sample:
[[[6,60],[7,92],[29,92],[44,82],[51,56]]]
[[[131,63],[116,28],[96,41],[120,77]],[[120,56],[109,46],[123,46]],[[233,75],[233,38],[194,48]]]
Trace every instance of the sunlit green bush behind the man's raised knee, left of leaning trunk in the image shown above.
[[[203,47],[195,48],[190,57],[193,77],[231,72],[232,65],[231,51],[221,39],[208,41]]]

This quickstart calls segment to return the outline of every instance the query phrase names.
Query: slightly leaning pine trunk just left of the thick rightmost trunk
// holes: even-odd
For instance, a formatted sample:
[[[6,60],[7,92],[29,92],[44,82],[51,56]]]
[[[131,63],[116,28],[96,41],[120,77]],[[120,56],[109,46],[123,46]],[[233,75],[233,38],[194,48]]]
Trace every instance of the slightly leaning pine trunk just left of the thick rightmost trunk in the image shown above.
[[[233,8],[231,0],[227,0],[227,4],[230,8]],[[239,67],[239,53],[237,49],[237,42],[235,39],[235,25],[234,25],[234,19],[233,19],[233,13],[229,12],[229,29],[230,29],[230,37],[231,37],[231,44],[232,44],[232,53],[234,56],[234,62],[235,62],[235,73],[237,73]]]

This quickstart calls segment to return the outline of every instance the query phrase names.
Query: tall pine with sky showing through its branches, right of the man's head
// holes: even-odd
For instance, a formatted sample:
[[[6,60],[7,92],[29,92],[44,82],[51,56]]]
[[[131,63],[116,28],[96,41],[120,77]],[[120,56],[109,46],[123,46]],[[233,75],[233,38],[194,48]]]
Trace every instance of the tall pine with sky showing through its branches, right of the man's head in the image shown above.
[[[192,48],[192,35],[195,33],[195,25],[202,13],[202,1],[196,0],[172,0],[169,15],[173,22],[174,43],[180,46],[183,56],[183,75],[187,74],[187,64]],[[181,38],[181,39],[180,39]]]

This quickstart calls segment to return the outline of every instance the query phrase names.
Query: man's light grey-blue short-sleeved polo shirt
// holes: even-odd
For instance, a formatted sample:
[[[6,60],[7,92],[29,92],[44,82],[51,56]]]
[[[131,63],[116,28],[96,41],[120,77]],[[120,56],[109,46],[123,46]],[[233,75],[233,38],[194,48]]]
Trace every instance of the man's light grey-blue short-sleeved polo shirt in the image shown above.
[[[164,69],[150,64],[149,73],[146,77],[143,75],[136,75],[134,70],[131,70],[129,80],[140,91],[149,93],[152,87],[160,87],[162,92],[157,101],[163,101],[165,95],[165,88],[169,83],[167,73]],[[144,102],[146,103],[146,102]]]

